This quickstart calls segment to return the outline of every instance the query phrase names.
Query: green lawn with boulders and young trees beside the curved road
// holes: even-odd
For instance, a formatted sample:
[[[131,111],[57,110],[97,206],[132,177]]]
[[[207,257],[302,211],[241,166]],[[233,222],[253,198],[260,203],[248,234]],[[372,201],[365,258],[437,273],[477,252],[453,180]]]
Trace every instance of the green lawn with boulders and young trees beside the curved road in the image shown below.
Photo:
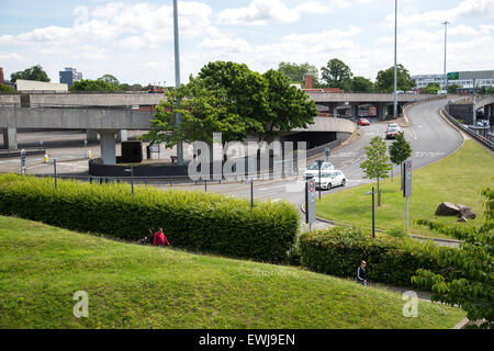
[[[457,217],[435,215],[441,202],[461,203],[470,206],[479,215],[483,213],[482,197],[479,191],[493,186],[494,157],[473,140],[467,140],[456,154],[434,165],[413,172],[412,197],[409,199],[411,233],[416,235],[442,235],[413,224],[414,219],[438,219],[456,224]],[[328,194],[317,203],[317,216],[337,223],[370,228],[372,226],[371,196],[366,192],[372,185],[366,184]],[[400,191],[400,174],[394,182],[386,179],[381,182],[382,206],[375,211],[375,226],[380,229],[402,228],[406,226],[406,202]],[[375,200],[377,201],[377,200]],[[471,224],[481,224],[481,216]],[[464,224],[463,224],[464,225]]]

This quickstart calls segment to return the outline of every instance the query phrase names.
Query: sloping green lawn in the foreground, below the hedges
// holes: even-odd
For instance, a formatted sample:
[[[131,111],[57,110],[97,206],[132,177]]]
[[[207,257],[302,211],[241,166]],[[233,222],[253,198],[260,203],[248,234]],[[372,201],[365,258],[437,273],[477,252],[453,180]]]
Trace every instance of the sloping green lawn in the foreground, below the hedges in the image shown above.
[[[77,291],[89,318],[72,315]],[[451,328],[464,313],[302,271],[0,216],[0,328]]]

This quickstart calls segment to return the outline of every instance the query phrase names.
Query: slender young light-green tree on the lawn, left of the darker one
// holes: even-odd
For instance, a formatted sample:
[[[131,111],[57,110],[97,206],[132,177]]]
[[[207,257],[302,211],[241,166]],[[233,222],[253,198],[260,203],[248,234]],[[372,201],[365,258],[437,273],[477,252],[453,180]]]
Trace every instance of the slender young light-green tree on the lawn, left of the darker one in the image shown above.
[[[390,178],[389,171],[391,165],[390,158],[386,152],[386,143],[381,137],[377,136],[371,139],[370,145],[366,146],[367,160],[360,163],[360,168],[366,173],[364,178],[377,179],[378,181],[378,206],[381,205],[380,201],[380,184],[381,179]]]

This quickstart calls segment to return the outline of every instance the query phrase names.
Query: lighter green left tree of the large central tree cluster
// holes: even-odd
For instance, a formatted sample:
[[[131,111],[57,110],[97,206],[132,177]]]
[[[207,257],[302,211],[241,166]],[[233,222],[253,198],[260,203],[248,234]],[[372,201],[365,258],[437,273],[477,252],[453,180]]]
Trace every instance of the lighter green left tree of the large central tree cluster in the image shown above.
[[[179,141],[213,141],[213,133],[222,133],[224,143],[247,136],[249,124],[228,103],[227,90],[211,89],[203,79],[190,77],[189,83],[169,88],[167,99],[156,106],[151,131],[141,137],[154,144],[166,143],[168,148]],[[181,123],[176,124],[177,113]]]

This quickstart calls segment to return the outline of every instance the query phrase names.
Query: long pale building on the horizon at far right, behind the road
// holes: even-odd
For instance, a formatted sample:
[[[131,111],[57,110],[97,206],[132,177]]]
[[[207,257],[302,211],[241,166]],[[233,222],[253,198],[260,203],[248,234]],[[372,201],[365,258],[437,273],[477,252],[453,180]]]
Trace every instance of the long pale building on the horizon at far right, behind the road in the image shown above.
[[[494,70],[476,70],[476,71],[461,71],[461,72],[449,72],[448,75],[448,87],[459,86],[459,90],[473,90],[480,89],[482,87],[494,87]],[[445,75],[419,75],[412,76],[415,80],[415,90],[425,89],[429,83],[436,83],[439,87],[445,87]]]

